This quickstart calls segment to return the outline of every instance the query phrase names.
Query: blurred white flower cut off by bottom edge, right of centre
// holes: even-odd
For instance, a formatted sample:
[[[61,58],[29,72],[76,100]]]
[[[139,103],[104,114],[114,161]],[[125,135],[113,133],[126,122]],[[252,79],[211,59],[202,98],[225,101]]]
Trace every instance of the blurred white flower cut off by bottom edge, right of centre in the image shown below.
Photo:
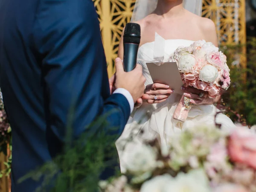
[[[161,192],[210,192],[209,182],[204,170],[192,170],[185,174],[180,172],[170,180]]]

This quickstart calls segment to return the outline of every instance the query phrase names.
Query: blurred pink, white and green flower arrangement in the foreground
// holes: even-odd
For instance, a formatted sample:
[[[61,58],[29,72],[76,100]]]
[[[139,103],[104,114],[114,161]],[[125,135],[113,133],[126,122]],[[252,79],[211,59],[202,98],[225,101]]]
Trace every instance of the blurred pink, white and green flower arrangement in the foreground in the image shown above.
[[[102,192],[256,192],[256,130],[193,128],[170,148],[140,142],[126,173],[99,183]]]

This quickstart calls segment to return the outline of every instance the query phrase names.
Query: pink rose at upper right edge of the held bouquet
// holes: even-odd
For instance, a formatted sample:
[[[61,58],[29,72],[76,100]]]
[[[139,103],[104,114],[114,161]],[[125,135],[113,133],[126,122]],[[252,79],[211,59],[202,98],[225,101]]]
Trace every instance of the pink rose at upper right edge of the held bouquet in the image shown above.
[[[212,64],[219,69],[223,68],[227,63],[227,57],[221,51],[212,52],[209,55],[206,55],[206,60],[209,64]]]

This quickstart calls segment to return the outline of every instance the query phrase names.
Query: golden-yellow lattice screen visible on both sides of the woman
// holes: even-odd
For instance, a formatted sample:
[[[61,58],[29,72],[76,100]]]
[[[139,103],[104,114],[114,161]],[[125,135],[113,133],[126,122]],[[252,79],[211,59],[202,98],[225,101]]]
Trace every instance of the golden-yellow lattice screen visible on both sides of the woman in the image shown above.
[[[109,76],[114,73],[119,38],[125,24],[131,20],[135,1],[93,0],[99,15]],[[203,0],[202,15],[215,22],[220,44],[245,44],[245,0]]]

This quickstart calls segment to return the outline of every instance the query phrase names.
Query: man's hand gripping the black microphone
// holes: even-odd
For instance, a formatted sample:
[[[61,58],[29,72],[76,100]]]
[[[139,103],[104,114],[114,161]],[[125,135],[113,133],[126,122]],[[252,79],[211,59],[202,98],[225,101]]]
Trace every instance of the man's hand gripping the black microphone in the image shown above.
[[[134,103],[143,96],[145,77],[142,74],[142,66],[137,64],[135,69],[130,72],[125,72],[120,58],[116,58],[116,74],[113,77],[113,82],[116,89],[124,88],[131,93]],[[113,90],[113,85],[111,87]]]

